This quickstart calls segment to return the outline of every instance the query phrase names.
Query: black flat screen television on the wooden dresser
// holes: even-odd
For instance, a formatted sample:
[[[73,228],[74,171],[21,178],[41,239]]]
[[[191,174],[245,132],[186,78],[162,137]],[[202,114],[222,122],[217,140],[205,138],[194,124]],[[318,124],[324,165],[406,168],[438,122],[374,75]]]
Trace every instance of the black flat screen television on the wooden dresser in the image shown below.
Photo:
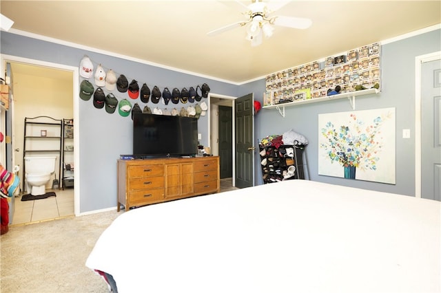
[[[134,113],[133,155],[179,157],[197,152],[197,118]]]

